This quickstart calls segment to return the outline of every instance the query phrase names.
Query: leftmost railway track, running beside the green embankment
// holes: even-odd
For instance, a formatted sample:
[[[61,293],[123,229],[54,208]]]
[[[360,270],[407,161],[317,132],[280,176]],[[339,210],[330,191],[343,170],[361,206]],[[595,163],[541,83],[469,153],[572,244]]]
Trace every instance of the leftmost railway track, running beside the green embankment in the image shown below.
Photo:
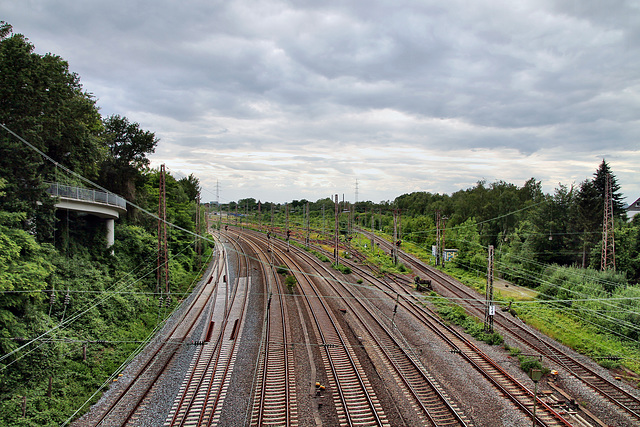
[[[213,270],[206,283],[199,287],[193,298],[185,300],[187,307],[179,315],[169,331],[160,334],[149,346],[143,360],[134,372],[129,374],[130,380],[115,393],[105,404],[73,425],[90,426],[125,426],[136,425],[139,414],[145,407],[148,398],[158,379],[165,373],[178,351],[188,344],[196,323],[217,289],[218,279],[224,274],[224,254],[217,252]]]

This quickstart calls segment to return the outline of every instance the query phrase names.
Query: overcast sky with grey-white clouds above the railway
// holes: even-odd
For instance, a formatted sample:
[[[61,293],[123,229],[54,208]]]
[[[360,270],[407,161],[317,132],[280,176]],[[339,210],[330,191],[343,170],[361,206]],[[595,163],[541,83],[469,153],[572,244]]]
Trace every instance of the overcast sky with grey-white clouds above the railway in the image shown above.
[[[603,158],[640,197],[640,3],[0,0],[203,199],[393,200]]]

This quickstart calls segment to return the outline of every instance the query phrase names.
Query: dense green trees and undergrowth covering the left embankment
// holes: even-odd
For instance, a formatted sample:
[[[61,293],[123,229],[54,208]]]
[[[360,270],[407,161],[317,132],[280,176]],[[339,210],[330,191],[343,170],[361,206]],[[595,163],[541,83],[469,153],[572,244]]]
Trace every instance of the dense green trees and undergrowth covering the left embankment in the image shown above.
[[[210,249],[203,242],[198,257],[189,233],[204,234],[199,182],[166,176],[167,220],[180,229],[168,239],[171,298],[159,304],[155,218],[130,205],[107,248],[102,219],[56,210],[45,192],[47,182],[94,182],[157,212],[155,135],[101,117],[64,60],[33,53],[5,23],[0,123],[0,425],[60,425],[117,378],[200,276]]]

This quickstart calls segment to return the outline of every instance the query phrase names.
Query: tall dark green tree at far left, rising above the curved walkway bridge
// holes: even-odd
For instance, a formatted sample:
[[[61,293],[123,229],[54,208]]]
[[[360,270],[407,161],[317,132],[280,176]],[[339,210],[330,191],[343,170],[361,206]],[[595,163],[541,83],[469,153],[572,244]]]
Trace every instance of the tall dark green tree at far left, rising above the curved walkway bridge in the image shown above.
[[[38,55],[11,25],[0,22],[0,123],[55,162],[93,177],[104,154],[94,99],[66,61]],[[6,130],[0,130],[0,177],[7,181],[0,209],[25,214],[23,228],[40,240],[53,232],[54,202],[45,179],[56,167]]]

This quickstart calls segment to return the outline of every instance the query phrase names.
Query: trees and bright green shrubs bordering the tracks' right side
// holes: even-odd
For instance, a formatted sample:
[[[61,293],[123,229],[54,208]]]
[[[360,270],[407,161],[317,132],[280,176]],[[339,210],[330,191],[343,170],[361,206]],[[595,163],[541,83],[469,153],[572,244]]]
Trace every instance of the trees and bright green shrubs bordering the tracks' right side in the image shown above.
[[[615,269],[601,268],[607,174],[612,189]],[[441,218],[446,218],[440,226],[444,246],[458,249],[447,265],[484,278],[487,247],[493,245],[496,277],[535,289],[537,299],[544,300],[547,309],[583,325],[582,330],[589,333],[577,338],[577,343],[567,344],[590,356],[606,356],[601,363],[614,367],[617,362],[609,359],[612,351],[623,354],[625,345],[637,351],[640,338],[640,215],[629,221],[621,200],[615,174],[603,160],[592,177],[579,185],[560,185],[553,194],[545,194],[534,178],[521,187],[504,181],[479,181],[452,195],[414,192],[377,204],[340,202],[338,221],[343,241],[358,227],[390,238],[396,211],[401,247],[411,243],[422,254],[430,254],[436,244],[439,211]],[[255,199],[247,198],[209,206],[209,210],[238,212],[246,217],[240,221],[261,223],[263,227],[273,223],[281,230],[286,227],[288,211],[288,228],[300,238],[306,233],[307,204],[311,229],[318,236],[324,231],[326,238],[335,224],[335,203],[330,198],[266,202],[259,203],[259,208]],[[533,317],[542,312],[539,307],[521,309]],[[603,335],[594,342],[591,333]],[[605,341],[606,346],[602,344]],[[635,362],[624,363],[636,371],[640,368]]]

